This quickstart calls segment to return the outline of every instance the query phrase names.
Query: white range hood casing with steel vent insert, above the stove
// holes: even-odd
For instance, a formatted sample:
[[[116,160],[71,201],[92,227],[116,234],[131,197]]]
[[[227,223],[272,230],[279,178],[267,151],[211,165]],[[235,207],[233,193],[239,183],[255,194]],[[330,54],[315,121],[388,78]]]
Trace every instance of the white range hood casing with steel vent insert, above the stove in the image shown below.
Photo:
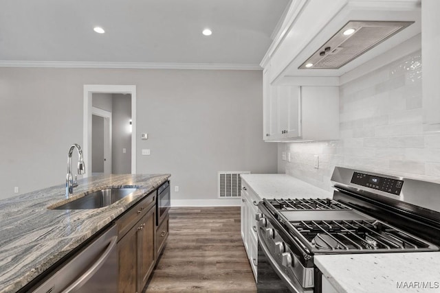
[[[420,49],[420,32],[421,0],[294,0],[260,65],[274,85],[339,86]]]

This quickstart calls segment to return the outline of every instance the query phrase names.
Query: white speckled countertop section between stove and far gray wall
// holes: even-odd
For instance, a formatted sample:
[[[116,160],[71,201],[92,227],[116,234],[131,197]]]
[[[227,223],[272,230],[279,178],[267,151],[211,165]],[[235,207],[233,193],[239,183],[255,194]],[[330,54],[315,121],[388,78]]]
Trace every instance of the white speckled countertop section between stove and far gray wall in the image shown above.
[[[330,191],[286,174],[241,174],[249,187],[263,198],[332,198]]]

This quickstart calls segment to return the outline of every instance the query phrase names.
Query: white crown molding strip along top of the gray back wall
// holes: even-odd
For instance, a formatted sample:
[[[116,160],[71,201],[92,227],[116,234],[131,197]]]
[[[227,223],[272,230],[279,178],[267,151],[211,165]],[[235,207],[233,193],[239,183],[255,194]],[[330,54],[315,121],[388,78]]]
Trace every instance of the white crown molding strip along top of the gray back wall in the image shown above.
[[[256,64],[234,63],[58,62],[15,60],[0,60],[0,67],[262,70],[262,68]]]

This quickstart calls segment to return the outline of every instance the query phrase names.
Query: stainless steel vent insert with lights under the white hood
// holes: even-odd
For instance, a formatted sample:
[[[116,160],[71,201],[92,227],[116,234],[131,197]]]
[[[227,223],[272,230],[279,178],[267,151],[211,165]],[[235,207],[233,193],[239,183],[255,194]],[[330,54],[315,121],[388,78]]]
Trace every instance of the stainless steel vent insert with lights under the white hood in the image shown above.
[[[414,21],[349,21],[298,69],[340,69]]]

